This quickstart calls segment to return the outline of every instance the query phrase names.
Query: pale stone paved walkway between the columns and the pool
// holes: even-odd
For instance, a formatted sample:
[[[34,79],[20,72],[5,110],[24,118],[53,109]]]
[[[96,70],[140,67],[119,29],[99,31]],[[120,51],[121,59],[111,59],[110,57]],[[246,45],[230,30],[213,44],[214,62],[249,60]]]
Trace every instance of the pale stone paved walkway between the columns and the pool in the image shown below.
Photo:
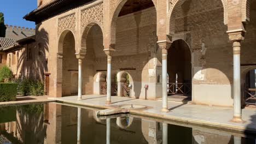
[[[232,123],[232,107],[217,107],[205,105],[191,105],[168,101],[171,112],[161,112],[161,101],[130,99],[126,97],[112,97],[112,105],[105,105],[104,95],[83,95],[82,100],[77,100],[77,96],[49,98],[63,103],[91,106],[100,109],[113,109],[123,104],[146,105],[148,109],[131,110],[135,115],[150,116],[156,118],[169,119],[174,122],[182,122],[209,128],[230,130],[230,131],[250,131],[256,133],[256,109],[243,109],[242,118],[246,123]]]

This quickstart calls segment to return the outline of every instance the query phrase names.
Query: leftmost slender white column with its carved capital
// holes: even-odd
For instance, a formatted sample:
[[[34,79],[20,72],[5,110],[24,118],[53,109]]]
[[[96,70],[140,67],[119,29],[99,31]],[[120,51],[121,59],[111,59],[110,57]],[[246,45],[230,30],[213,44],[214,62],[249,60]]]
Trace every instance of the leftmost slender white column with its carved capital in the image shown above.
[[[75,53],[75,55],[77,56],[78,59],[78,100],[82,99],[82,62],[83,62],[83,58],[85,53]]]

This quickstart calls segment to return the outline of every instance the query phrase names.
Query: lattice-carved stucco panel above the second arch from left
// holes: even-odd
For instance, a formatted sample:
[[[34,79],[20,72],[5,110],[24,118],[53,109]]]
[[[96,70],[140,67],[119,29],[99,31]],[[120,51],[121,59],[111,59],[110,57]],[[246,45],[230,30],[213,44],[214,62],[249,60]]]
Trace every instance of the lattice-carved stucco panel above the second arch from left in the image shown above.
[[[90,23],[97,22],[103,27],[103,2],[81,10],[82,30]]]

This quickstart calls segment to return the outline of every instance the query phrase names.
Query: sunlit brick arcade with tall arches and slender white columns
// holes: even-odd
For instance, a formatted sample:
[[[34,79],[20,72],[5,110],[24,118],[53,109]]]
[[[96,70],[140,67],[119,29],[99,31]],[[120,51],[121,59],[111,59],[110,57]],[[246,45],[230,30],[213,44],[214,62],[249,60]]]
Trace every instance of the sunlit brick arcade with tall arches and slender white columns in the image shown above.
[[[147,95],[168,111],[167,95],[183,94],[234,105],[240,118],[243,73],[256,65],[255,8],[255,0],[95,0],[40,21],[50,95],[106,94],[107,104]]]

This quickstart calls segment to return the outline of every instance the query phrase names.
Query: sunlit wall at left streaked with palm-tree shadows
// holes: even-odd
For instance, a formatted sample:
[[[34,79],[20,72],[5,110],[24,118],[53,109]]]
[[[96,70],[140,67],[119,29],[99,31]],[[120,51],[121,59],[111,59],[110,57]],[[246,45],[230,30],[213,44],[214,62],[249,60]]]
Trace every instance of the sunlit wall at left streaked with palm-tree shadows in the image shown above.
[[[45,50],[43,47],[39,49],[36,43],[26,44],[14,52],[8,52],[6,61],[16,78],[27,76],[43,80],[48,69]]]

